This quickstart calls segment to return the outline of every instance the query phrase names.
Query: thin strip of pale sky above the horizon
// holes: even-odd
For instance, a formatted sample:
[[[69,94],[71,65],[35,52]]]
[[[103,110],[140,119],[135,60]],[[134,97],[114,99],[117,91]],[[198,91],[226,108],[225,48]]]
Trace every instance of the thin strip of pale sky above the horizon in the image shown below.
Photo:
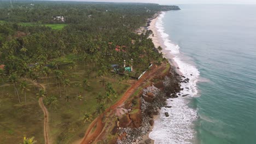
[[[256,0],[55,0],[90,2],[141,2],[158,4],[256,4]]]

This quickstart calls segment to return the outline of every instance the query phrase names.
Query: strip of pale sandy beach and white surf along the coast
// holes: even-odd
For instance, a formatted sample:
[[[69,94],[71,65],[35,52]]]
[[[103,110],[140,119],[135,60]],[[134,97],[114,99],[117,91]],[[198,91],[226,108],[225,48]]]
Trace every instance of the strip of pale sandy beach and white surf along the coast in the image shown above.
[[[166,135],[166,137],[172,135],[171,138],[169,139],[166,139],[166,137],[162,137],[162,140],[164,139],[164,141],[162,142],[173,143],[175,139],[179,139],[179,142],[183,143],[188,138],[188,135],[183,135],[184,131],[190,131],[189,139],[195,140],[194,136],[196,132],[193,129],[191,129],[191,127],[193,127],[192,122],[197,118],[196,110],[191,110],[187,105],[187,101],[183,97],[193,97],[193,95],[197,93],[196,82],[198,80],[200,72],[193,65],[183,62],[183,55],[180,55],[179,53],[179,46],[173,44],[170,39],[166,38],[166,35],[168,34],[165,33],[165,28],[162,23],[162,18],[164,16],[165,11],[159,12],[158,16],[156,16],[155,19],[149,21],[150,23],[147,29],[151,30],[154,34],[150,35],[150,38],[152,39],[155,47],[162,47],[162,50],[159,52],[163,54],[163,57],[165,57],[168,60],[168,63],[171,65],[171,69],[173,70],[171,73],[180,77],[181,80],[179,81],[180,90],[174,92],[178,96],[174,97],[175,99],[173,100],[166,100],[166,103],[172,105],[172,108],[164,109],[164,111],[161,110],[161,118],[159,113],[159,118],[154,119],[154,122],[159,122],[160,120],[162,121],[162,112],[168,112],[171,113],[172,118],[168,119],[168,121],[165,121],[165,124],[172,124],[168,125],[167,127],[162,127],[162,124],[160,124],[161,126],[159,127],[159,123],[157,123],[157,125],[154,125],[154,127],[155,129],[160,128],[161,131],[166,131],[166,134],[168,134]],[[189,115],[183,118],[183,120],[179,121],[180,116],[177,113],[177,111],[179,111],[178,113],[181,112],[184,115]],[[180,128],[181,130],[174,131],[174,134],[171,134],[171,131],[175,130],[177,127]],[[151,139],[149,137],[150,135],[152,139],[155,139],[157,140],[156,142],[158,142],[159,137],[156,135],[157,132],[155,131],[155,129],[154,131],[153,129],[150,129],[150,132],[148,133],[147,136],[148,139]],[[181,137],[183,137],[183,139]]]

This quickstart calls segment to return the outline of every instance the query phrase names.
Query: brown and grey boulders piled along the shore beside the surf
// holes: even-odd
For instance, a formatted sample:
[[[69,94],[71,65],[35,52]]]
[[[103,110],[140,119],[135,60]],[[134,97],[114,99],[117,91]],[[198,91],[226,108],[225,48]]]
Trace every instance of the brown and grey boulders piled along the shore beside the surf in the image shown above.
[[[128,117],[124,115],[124,119],[119,119],[120,121],[130,121],[132,124],[125,122],[129,126],[120,125],[118,128],[118,135],[120,136],[117,140],[117,143],[132,143],[142,140],[142,137],[150,131],[150,125],[154,125],[154,120],[152,119],[153,115],[158,115],[158,110],[160,107],[166,106],[166,98],[177,98],[178,95],[176,92],[181,90],[179,82],[181,80],[177,78],[178,75],[169,74],[161,82],[157,82],[154,86],[149,86],[143,89],[142,95],[139,98],[140,110],[136,111],[131,115],[132,112],[129,112]],[[171,106],[166,106],[171,108]],[[133,109],[133,107],[129,108]],[[137,109],[137,107],[135,108]],[[134,111],[134,110],[132,110]],[[169,114],[165,113],[166,117]],[[138,117],[141,120],[138,120]],[[121,123],[121,122],[120,122]],[[133,127],[131,126],[133,125]],[[123,127],[121,127],[123,126]],[[124,136],[125,134],[125,136]],[[144,143],[150,143],[150,139],[146,140]]]

